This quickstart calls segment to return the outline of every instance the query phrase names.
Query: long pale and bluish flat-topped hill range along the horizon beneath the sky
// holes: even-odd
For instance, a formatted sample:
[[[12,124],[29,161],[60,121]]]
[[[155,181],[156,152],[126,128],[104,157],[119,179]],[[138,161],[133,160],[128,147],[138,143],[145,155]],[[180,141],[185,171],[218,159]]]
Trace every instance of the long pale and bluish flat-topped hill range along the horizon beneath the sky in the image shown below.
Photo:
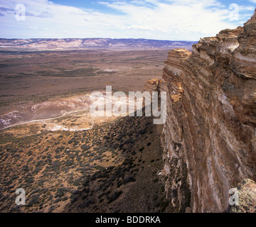
[[[147,39],[111,39],[111,38],[32,38],[0,39],[0,50],[78,50],[78,49],[172,49],[188,48],[194,41],[170,41]]]

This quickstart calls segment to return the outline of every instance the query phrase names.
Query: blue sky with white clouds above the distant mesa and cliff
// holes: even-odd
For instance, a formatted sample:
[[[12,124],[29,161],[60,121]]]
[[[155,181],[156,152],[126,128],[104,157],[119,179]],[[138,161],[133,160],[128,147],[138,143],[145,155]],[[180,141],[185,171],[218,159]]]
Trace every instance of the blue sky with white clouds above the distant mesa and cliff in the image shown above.
[[[199,40],[242,26],[256,0],[0,0],[0,38]]]

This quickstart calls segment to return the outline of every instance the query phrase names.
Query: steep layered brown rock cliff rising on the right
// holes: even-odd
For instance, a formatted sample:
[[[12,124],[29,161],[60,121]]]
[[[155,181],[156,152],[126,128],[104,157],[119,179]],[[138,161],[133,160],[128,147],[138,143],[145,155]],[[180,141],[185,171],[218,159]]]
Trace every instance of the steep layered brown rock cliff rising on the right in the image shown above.
[[[161,175],[171,211],[225,211],[229,190],[256,179],[256,11],[192,52],[169,51],[161,82],[144,89],[167,93]]]

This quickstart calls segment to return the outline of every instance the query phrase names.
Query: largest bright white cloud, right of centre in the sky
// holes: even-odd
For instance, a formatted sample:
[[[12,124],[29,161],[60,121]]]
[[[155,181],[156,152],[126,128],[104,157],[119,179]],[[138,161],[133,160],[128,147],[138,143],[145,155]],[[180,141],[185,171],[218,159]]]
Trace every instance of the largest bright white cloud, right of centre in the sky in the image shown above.
[[[154,9],[145,6],[134,6],[115,2],[105,3],[112,9],[127,14],[127,23],[124,28],[137,28],[161,33],[206,33],[215,34],[220,29],[229,27],[229,23],[223,22],[228,18],[227,9],[211,11],[206,6],[219,6],[215,1],[171,1],[173,4],[155,3]],[[212,2],[212,4],[210,4]]]

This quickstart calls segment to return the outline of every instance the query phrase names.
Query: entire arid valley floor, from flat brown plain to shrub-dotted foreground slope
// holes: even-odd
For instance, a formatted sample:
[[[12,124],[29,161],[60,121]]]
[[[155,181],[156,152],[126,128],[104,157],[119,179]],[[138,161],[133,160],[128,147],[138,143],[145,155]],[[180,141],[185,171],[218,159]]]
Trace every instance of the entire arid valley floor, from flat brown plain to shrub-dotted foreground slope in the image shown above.
[[[161,126],[92,117],[78,100],[107,85],[142,91],[161,78],[168,51],[2,51],[0,211],[164,211]],[[16,206],[17,188],[26,190],[26,206]]]

